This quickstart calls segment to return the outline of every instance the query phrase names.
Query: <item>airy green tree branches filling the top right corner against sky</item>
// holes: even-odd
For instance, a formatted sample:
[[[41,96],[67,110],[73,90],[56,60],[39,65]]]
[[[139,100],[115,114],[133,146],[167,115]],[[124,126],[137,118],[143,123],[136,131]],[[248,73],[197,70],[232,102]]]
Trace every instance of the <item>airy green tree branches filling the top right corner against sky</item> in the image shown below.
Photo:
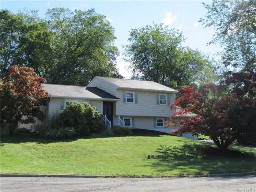
[[[203,6],[207,14],[199,21],[216,30],[208,44],[223,47],[225,65],[256,71],[256,1],[214,0]]]

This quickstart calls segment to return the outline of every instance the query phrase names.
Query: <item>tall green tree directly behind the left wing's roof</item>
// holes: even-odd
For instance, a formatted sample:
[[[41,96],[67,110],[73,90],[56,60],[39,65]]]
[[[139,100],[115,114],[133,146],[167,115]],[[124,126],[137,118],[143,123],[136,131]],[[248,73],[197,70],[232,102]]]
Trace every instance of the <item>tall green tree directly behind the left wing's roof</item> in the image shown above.
[[[46,19],[56,35],[56,67],[48,82],[86,85],[95,75],[122,78],[116,68],[114,29],[106,16],[94,9],[54,8],[47,11]]]

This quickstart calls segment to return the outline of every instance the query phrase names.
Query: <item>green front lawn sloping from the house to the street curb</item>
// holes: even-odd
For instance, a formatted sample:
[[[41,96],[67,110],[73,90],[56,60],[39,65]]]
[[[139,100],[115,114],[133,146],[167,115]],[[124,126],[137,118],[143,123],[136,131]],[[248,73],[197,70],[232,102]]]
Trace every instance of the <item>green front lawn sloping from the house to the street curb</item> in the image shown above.
[[[1,133],[1,173],[182,175],[256,171],[256,150],[244,157],[204,155],[210,146],[175,136],[124,136],[54,141]],[[153,158],[147,159],[148,155]]]

